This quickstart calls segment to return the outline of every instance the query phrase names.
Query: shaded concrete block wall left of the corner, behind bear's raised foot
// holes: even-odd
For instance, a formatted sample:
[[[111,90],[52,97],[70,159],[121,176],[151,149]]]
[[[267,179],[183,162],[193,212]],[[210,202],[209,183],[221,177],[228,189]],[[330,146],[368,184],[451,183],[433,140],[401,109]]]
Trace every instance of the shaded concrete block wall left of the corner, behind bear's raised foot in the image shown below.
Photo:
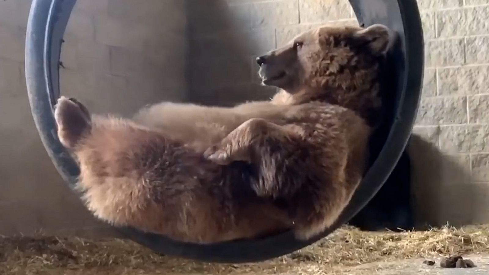
[[[0,1],[0,235],[111,235],[65,186],[35,129],[23,63],[30,4]],[[186,100],[185,14],[181,0],[78,0],[62,48],[62,93],[121,115]]]

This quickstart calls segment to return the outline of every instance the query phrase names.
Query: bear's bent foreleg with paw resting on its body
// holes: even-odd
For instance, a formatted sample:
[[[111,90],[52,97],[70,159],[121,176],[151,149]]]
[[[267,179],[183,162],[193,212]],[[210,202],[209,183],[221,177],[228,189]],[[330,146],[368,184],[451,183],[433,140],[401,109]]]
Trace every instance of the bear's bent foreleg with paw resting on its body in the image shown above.
[[[304,173],[294,172],[301,169],[300,165],[293,164],[304,162],[304,152],[307,151],[301,132],[299,126],[280,126],[262,118],[252,118],[219,144],[207,149],[204,156],[221,165],[233,161],[252,163],[260,171],[258,181],[252,183],[257,195],[275,198],[289,196],[303,182]],[[294,176],[288,176],[292,174]]]

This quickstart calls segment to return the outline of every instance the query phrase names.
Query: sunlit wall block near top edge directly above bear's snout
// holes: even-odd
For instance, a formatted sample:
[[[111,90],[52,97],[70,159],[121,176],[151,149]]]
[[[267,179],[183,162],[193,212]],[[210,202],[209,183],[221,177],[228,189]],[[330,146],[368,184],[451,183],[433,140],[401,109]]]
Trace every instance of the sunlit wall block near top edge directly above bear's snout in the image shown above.
[[[251,27],[262,28],[299,23],[298,0],[276,0],[253,3]]]

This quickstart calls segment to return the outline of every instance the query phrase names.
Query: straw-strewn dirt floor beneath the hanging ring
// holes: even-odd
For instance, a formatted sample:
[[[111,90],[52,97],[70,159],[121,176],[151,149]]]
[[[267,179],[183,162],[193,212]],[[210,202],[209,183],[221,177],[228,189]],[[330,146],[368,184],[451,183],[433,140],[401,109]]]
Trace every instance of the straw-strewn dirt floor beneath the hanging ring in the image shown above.
[[[489,255],[488,229],[489,226],[445,227],[374,233],[345,227],[302,251],[262,263],[239,265],[157,255],[131,241],[118,239],[1,237],[0,275],[458,274],[440,273],[444,272],[439,268],[440,257],[469,255],[478,267],[489,264],[485,260]],[[426,266],[423,259],[435,260],[436,264]]]

